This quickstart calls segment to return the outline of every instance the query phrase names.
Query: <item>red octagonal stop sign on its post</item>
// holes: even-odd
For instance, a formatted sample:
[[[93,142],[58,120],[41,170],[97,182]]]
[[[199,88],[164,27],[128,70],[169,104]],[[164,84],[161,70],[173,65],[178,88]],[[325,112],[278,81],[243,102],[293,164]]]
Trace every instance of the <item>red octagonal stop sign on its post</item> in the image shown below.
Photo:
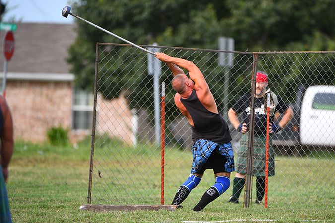
[[[7,78],[7,67],[8,61],[10,61],[11,57],[14,54],[14,35],[11,31],[7,31],[4,36],[3,41],[3,52],[4,52],[4,67],[3,67],[3,81],[2,81],[2,91],[3,97],[6,94],[6,78]]]

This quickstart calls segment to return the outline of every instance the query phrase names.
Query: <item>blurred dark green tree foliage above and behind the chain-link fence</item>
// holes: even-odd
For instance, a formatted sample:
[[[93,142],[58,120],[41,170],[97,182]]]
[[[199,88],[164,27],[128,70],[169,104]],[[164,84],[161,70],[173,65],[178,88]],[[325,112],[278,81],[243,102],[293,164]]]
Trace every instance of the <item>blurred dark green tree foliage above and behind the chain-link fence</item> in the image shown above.
[[[138,45],[158,43],[159,46],[218,49],[218,38],[225,36],[234,38],[235,51],[242,52],[335,50],[334,0],[74,0],[70,6],[74,14]],[[124,42],[78,19],[75,22],[78,36],[68,49],[67,61],[75,74],[76,86],[93,91],[96,43]],[[104,89],[102,94],[113,99],[127,89],[132,107],[150,107],[153,80],[142,67],[146,64],[146,56],[133,61],[127,57],[127,52],[116,52],[111,56],[118,56],[123,62],[129,60],[129,66],[139,66],[139,69],[127,73],[127,64],[119,66],[121,63],[115,61],[107,65],[106,70],[111,76],[99,80],[101,89]],[[277,59],[275,65],[267,66],[267,61],[261,65],[267,67],[270,80],[284,79],[279,84],[281,89],[287,89],[286,92],[295,92],[292,88],[299,84],[312,85],[318,75],[326,75],[325,81],[334,82],[332,73],[322,73],[322,66],[332,66],[335,63],[332,60],[326,60],[327,64],[319,64],[307,73],[295,73],[297,71],[285,68],[295,61],[284,61],[282,56]],[[301,59],[306,64],[313,62],[308,56],[300,56],[297,61],[300,63]],[[271,58],[268,62],[274,60]],[[250,67],[246,70],[250,71]],[[287,73],[281,73],[282,70]],[[236,82],[229,86],[231,92],[250,89],[246,80],[250,73],[240,71],[232,75]],[[162,80],[169,80],[169,77],[163,76]],[[169,83],[166,84],[171,88]],[[218,79],[210,87],[223,91],[223,84]],[[167,101],[171,101],[172,95],[167,95]],[[290,94],[287,98],[293,101],[293,96]]]

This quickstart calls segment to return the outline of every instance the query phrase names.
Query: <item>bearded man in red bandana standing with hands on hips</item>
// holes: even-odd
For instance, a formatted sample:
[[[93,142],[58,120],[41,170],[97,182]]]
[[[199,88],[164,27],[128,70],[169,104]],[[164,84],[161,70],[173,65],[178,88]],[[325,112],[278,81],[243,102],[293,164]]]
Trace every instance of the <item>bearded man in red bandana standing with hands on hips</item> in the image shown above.
[[[264,72],[256,73],[255,92],[255,122],[254,122],[254,154],[253,154],[253,176],[256,176],[256,204],[260,204],[265,189],[265,161],[266,161],[266,130],[267,114],[264,111],[264,95],[268,87],[268,75]],[[293,110],[277,96],[278,104],[274,113],[283,113],[278,124],[274,124],[275,115],[270,116],[269,123],[269,158],[268,176],[274,176],[274,150],[272,148],[271,135],[284,128],[293,117]],[[249,123],[251,111],[251,93],[242,96],[228,111],[228,117],[234,127],[242,133],[236,160],[236,175],[233,179],[233,194],[228,202],[239,203],[238,199],[245,185],[247,151],[249,138]],[[242,123],[238,120],[238,114],[243,112]]]

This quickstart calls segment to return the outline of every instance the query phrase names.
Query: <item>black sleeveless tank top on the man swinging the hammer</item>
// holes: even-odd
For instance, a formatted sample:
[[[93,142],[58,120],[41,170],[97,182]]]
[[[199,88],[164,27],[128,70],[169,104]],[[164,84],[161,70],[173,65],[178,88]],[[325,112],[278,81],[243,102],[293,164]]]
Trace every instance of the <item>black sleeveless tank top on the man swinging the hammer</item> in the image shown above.
[[[192,126],[192,140],[206,139],[223,144],[230,142],[231,136],[227,122],[220,114],[208,111],[199,101],[196,91],[193,90],[190,97],[180,99],[190,113],[194,126]]]

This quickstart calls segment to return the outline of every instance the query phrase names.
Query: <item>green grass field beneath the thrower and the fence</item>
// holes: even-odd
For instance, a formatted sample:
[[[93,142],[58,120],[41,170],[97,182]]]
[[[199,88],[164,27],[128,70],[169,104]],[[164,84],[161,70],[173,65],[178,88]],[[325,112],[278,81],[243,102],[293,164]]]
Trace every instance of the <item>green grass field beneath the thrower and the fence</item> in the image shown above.
[[[119,149],[120,150],[120,149]],[[180,152],[180,158],[189,159],[185,156],[183,151]],[[169,157],[169,150],[167,149],[166,156]],[[143,159],[145,156],[156,156],[156,152],[143,151],[139,149],[136,154],[141,154]],[[112,155],[109,155],[113,157]],[[298,223],[298,222],[335,222],[335,205],[334,205],[334,191],[330,192],[328,196],[332,200],[331,204],[321,205],[318,208],[306,208],[304,206],[296,207],[290,202],[280,202],[280,205],[269,205],[268,209],[264,206],[257,206],[252,204],[250,208],[243,208],[242,204],[233,205],[226,204],[226,198],[231,193],[229,188],[228,193],[221,198],[209,204],[203,212],[194,213],[190,211],[194,199],[199,199],[204,192],[204,189],[193,191],[193,196],[190,201],[186,202],[183,209],[173,212],[170,211],[113,211],[113,212],[93,212],[82,211],[79,207],[87,204],[88,191],[88,173],[89,173],[89,158],[90,158],[90,139],[83,141],[78,146],[67,147],[53,147],[48,144],[31,144],[16,142],[15,151],[9,167],[9,180],[7,182],[7,190],[12,213],[12,220],[14,223],[178,223],[178,222],[223,222],[228,220],[245,219],[244,222],[268,222],[265,220],[277,220],[279,223]],[[99,158],[97,158],[99,159]],[[122,163],[122,157],[118,157]],[[158,156],[157,162],[160,162]],[[278,158],[280,159],[280,158]],[[320,158],[322,159],[322,158]],[[140,159],[139,161],[140,162]],[[137,163],[138,163],[137,162]],[[189,172],[189,169],[181,169],[176,164],[167,161],[166,174],[168,176],[178,174],[181,171]],[[299,159],[290,158],[289,162],[300,164]],[[317,162],[314,161],[313,162]],[[157,165],[155,162],[148,165]],[[279,162],[280,163],[280,162]],[[283,164],[287,164],[287,158]],[[134,166],[136,166],[136,162]],[[176,168],[173,168],[175,165]],[[331,164],[333,165],[333,164]],[[142,167],[143,165],[139,165]],[[292,166],[292,165],[289,165]],[[302,166],[302,165],[299,165]],[[130,167],[130,164],[125,167]],[[105,167],[106,168],[106,167]],[[138,168],[138,167],[137,167]],[[144,168],[144,167],[143,167]],[[277,167],[276,167],[277,168]],[[302,167],[303,168],[303,167]],[[280,168],[277,168],[278,178],[276,180],[285,180],[280,177]],[[117,171],[117,170],[115,170]],[[118,170],[121,171],[121,170]],[[157,171],[160,171],[158,169]],[[105,176],[107,173],[104,173]],[[112,176],[117,176],[118,173],[113,173]],[[121,173],[122,174],[122,171]],[[152,170],[153,176],[156,174]],[[160,173],[158,173],[159,175]],[[187,173],[186,173],[187,174]],[[292,174],[295,174],[295,169],[292,169]],[[328,173],[330,174],[330,173]],[[136,176],[136,172],[134,172]],[[104,175],[103,175],[104,177]],[[303,175],[301,176],[304,177]],[[321,176],[324,177],[324,176]],[[136,177],[138,180],[139,176]],[[145,178],[145,177],[143,177]],[[232,178],[232,177],[231,177]],[[334,178],[334,177],[333,177]],[[183,179],[174,179],[176,182],[167,182],[166,186],[166,203],[169,203],[171,197],[174,195],[176,184]],[[108,184],[108,180],[101,184]],[[139,181],[141,182],[141,181]],[[304,182],[303,180],[301,182]],[[112,182],[109,182],[112,183]],[[294,183],[294,182],[293,182]],[[140,184],[140,183],[139,183]],[[154,182],[154,184],[157,184]],[[116,184],[115,184],[116,185]],[[124,185],[121,185],[124,187]],[[301,187],[310,186],[308,182]],[[314,185],[317,187],[317,185]],[[205,188],[206,186],[204,186]],[[333,186],[334,187],[334,186]],[[173,189],[172,189],[173,188]],[[153,190],[157,192],[157,198],[152,198],[152,202],[157,204],[160,200],[160,186],[156,185]],[[287,196],[285,188],[272,188],[272,194],[278,196]],[[105,188],[108,193],[108,187]],[[96,192],[93,190],[93,192]],[[145,194],[145,193],[144,193]],[[190,195],[191,196],[191,195]],[[292,195],[290,195],[292,196]],[[306,195],[310,196],[310,195]],[[134,198],[135,199],[135,198]],[[189,198],[188,198],[189,199]],[[187,200],[188,200],[187,199]],[[240,198],[240,201],[242,199]],[[127,201],[127,199],[126,199]],[[148,204],[149,202],[146,201]],[[305,201],[302,201],[304,203]],[[127,204],[127,203],[125,203]],[[144,203],[143,203],[144,204]],[[253,221],[263,220],[263,221]],[[238,221],[235,221],[238,222]]]

